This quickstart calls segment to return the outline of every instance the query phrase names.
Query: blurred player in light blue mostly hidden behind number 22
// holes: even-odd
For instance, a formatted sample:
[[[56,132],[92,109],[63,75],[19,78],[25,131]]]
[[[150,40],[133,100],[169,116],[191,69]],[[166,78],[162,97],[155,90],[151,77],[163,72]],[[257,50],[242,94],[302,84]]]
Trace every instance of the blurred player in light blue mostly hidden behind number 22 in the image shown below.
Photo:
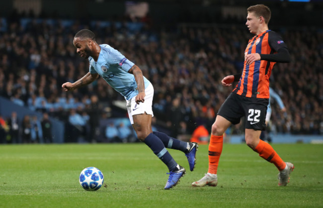
[[[277,104],[279,105],[280,110],[282,112],[286,112],[286,107],[285,107],[283,101],[281,100],[281,98],[279,97],[279,95],[271,87],[269,87],[269,102],[268,102],[268,105],[267,105],[267,112],[266,112],[266,119],[265,119],[266,126],[268,126],[269,121],[270,121],[270,117],[271,117],[271,106],[270,106],[270,102],[272,101],[272,99],[275,102],[277,102]],[[264,140],[264,141],[271,142],[271,139],[268,136],[267,130],[261,131],[260,139],[261,140]]]

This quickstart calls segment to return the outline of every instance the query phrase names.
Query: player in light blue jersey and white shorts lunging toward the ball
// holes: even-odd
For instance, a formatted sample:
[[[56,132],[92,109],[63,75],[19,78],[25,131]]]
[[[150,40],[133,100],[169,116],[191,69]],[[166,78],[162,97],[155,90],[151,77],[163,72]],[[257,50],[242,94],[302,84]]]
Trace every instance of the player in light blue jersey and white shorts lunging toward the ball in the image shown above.
[[[62,88],[65,91],[75,90],[92,83],[101,76],[126,99],[129,119],[138,139],[149,146],[168,167],[169,177],[164,189],[176,186],[185,174],[185,169],[175,162],[166,148],[184,152],[190,170],[193,171],[197,143],[183,142],[164,133],[152,131],[154,88],[138,66],[109,45],[98,45],[94,33],[90,30],[80,30],[75,35],[73,44],[77,48],[77,53],[88,59],[89,72],[74,83],[64,83]]]

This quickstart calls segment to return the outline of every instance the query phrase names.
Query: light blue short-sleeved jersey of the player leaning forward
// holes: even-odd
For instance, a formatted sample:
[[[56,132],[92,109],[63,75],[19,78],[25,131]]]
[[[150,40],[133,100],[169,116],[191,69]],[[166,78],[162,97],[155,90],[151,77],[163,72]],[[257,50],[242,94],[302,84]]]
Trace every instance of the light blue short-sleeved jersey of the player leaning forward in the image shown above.
[[[119,51],[107,44],[100,45],[101,51],[97,62],[88,57],[89,72],[99,74],[114,90],[119,92],[126,100],[138,95],[135,76],[128,73],[135,64],[129,61]],[[150,82],[144,77],[145,89]]]

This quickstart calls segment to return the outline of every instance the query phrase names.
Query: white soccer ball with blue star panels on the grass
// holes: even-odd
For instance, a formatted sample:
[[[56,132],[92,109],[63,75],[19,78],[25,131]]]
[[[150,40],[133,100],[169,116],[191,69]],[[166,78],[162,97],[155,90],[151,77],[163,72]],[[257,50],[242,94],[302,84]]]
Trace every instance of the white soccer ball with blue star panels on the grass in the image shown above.
[[[86,191],[96,191],[103,184],[102,172],[94,167],[88,167],[82,170],[80,174],[80,184]]]

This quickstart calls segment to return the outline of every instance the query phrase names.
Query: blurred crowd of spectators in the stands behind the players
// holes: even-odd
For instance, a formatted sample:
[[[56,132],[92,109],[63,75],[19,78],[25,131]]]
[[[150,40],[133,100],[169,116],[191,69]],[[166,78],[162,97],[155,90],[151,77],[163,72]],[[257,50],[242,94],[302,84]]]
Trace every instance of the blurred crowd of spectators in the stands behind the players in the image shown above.
[[[157,124],[171,136],[191,134],[200,125],[210,130],[233,90],[223,87],[221,80],[242,72],[243,51],[251,34],[240,26],[178,25],[174,31],[152,31],[146,24],[127,22],[85,25],[77,20],[7,19],[0,29],[0,96],[72,127],[89,126],[90,140],[100,133],[96,129],[100,119],[127,116],[114,108],[114,102],[124,98],[101,78],[73,92],[61,90],[63,83],[75,82],[88,72],[88,61],[76,54],[72,44],[76,32],[88,28],[99,44],[119,50],[153,83]],[[283,114],[272,104],[271,130],[323,134],[323,32],[275,31],[287,43],[292,61],[277,64],[271,75],[271,87],[287,108]],[[107,107],[114,110],[108,112]],[[241,133],[242,125],[234,126],[231,133]]]

